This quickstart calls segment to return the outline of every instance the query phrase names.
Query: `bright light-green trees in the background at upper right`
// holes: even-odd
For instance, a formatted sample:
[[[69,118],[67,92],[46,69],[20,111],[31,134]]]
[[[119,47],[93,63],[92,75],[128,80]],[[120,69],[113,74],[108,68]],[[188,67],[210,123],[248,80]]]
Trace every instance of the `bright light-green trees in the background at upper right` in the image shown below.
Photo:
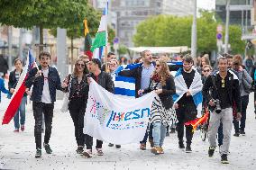
[[[197,18],[198,53],[216,49],[216,27],[220,22],[215,21],[214,15],[215,13],[201,11],[201,17]],[[133,42],[135,46],[191,47],[191,26],[192,16],[154,16],[137,26]],[[234,52],[242,52],[244,49],[239,26],[230,26],[230,43]]]

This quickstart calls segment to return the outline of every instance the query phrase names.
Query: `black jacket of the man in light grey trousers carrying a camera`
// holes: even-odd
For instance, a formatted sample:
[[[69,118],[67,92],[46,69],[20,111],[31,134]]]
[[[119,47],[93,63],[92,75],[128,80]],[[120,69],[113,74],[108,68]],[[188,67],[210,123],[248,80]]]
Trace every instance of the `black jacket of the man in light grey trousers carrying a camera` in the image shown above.
[[[220,86],[221,84],[221,80],[219,78],[217,78],[217,73],[214,76],[215,78],[215,85],[216,87]],[[241,96],[240,96],[240,86],[239,86],[239,80],[236,76],[236,78],[234,78],[234,76],[236,76],[232,71],[228,71],[227,72],[227,77],[228,77],[228,81],[227,81],[227,90],[228,90],[228,94],[229,94],[229,100],[230,103],[235,103],[236,106],[236,111],[237,112],[241,112]],[[213,90],[212,96],[210,96],[210,94],[208,93],[211,89],[214,88],[213,85],[213,81],[212,81],[212,77],[208,76],[206,78],[206,82],[203,86],[203,96],[206,99],[206,103],[208,103],[212,98],[217,99],[218,93],[215,93],[215,91]]]

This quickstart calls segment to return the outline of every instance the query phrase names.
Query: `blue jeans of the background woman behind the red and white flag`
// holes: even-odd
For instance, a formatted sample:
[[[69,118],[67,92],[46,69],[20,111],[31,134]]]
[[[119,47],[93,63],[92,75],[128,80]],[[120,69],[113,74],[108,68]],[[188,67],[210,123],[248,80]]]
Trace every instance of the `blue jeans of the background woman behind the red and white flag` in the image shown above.
[[[23,96],[22,102],[20,104],[20,107],[18,108],[18,111],[14,115],[14,127],[16,130],[20,129],[20,124],[25,124],[25,105],[27,102],[27,97]],[[20,121],[19,121],[19,118]]]

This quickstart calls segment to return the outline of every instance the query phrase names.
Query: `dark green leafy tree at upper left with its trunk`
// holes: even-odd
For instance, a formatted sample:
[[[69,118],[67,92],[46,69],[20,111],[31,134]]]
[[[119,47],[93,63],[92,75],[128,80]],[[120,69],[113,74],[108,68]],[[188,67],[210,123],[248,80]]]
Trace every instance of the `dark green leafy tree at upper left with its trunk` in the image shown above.
[[[43,28],[74,29],[93,10],[87,5],[87,0],[2,0],[0,8],[0,22],[3,24],[27,29],[38,26],[40,44],[43,44]],[[96,20],[94,15],[89,18],[89,22]]]

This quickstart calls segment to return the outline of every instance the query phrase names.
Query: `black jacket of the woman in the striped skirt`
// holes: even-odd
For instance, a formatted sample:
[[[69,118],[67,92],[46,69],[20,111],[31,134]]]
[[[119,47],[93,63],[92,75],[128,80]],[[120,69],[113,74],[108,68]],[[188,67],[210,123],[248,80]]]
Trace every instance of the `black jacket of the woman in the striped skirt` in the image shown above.
[[[144,89],[144,94],[156,90],[152,88],[152,84],[153,80],[151,79],[150,86]],[[171,108],[173,105],[172,94],[176,94],[176,88],[174,83],[174,77],[170,76],[166,79],[166,85],[162,86],[162,93],[159,94],[160,101],[166,109]]]

